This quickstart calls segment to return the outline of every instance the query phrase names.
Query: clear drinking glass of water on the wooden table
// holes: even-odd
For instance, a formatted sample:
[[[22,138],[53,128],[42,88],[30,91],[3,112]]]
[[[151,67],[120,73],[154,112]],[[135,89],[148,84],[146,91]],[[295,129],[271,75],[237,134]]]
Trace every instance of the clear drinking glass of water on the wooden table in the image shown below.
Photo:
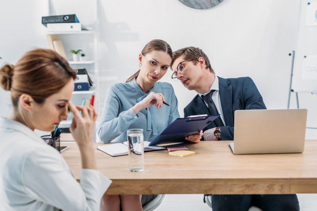
[[[129,148],[129,170],[144,171],[143,129],[127,130]]]

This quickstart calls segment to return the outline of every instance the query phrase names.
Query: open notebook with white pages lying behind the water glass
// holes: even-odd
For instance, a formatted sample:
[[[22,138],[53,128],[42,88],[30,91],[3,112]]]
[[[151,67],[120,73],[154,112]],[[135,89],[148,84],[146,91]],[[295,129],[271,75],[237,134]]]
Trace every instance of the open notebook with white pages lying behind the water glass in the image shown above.
[[[150,141],[143,142],[144,152],[165,149],[165,147],[162,147],[162,146],[149,146],[150,143],[151,143]],[[128,142],[125,141],[123,143],[108,144],[108,145],[103,145],[103,146],[100,145],[97,147],[97,149],[99,149],[102,152],[107,153],[108,155],[111,155],[112,157],[127,155],[128,154]]]

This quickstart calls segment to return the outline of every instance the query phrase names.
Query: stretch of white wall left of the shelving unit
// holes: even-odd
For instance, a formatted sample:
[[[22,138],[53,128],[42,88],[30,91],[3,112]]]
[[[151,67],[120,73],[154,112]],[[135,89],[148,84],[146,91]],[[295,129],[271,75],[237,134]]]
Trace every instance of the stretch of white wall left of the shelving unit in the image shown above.
[[[45,1],[1,1],[0,65],[16,64],[22,55],[36,47],[47,47],[41,17],[47,14]],[[7,116],[12,104],[10,92],[0,88],[0,116]]]

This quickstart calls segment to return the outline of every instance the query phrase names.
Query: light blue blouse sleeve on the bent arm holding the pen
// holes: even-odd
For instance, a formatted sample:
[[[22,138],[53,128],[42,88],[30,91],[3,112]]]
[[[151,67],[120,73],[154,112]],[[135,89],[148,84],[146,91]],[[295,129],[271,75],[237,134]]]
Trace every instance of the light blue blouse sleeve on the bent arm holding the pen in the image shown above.
[[[125,133],[129,126],[139,117],[134,114],[132,108],[122,111],[119,115],[119,105],[122,104],[120,98],[113,90],[113,85],[109,87],[105,99],[100,125],[97,132],[102,143],[109,143],[122,133]]]

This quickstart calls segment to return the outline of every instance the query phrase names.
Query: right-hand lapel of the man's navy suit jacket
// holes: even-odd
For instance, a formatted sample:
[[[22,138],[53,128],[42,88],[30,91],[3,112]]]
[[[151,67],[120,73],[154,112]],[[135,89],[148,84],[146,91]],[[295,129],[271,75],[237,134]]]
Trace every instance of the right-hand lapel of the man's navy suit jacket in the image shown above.
[[[227,79],[219,78],[219,95],[224,121],[227,126],[233,126],[232,86]]]

